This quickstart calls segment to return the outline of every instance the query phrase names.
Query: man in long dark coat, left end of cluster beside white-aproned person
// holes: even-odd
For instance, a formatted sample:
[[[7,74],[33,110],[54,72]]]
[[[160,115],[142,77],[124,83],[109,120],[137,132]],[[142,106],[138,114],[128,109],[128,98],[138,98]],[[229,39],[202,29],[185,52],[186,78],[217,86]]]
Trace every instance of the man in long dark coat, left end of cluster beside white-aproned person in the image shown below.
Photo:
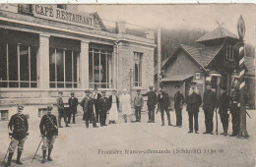
[[[87,128],[89,128],[89,121],[92,118],[93,126],[96,127],[96,117],[94,112],[94,98],[93,93],[90,90],[86,90],[86,96],[82,99],[81,106],[83,107],[84,117],[83,120],[86,121]]]

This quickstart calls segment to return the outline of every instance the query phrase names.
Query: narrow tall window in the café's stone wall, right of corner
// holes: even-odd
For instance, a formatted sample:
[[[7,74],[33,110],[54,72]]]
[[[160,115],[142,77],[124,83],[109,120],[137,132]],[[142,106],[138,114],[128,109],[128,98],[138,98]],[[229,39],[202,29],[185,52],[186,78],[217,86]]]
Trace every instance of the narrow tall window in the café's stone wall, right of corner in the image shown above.
[[[134,52],[134,86],[142,86],[142,53]]]

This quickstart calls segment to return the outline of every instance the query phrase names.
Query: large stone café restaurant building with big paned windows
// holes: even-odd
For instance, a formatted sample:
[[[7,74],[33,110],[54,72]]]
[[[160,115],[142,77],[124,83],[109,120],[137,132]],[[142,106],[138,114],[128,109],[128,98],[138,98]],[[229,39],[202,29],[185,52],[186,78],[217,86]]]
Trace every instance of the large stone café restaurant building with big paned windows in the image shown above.
[[[38,118],[54,104],[86,89],[135,92],[154,84],[155,32],[125,22],[104,26],[77,5],[0,6],[0,114],[8,120],[24,105]],[[56,109],[54,109],[56,111]],[[79,109],[81,110],[81,109]]]

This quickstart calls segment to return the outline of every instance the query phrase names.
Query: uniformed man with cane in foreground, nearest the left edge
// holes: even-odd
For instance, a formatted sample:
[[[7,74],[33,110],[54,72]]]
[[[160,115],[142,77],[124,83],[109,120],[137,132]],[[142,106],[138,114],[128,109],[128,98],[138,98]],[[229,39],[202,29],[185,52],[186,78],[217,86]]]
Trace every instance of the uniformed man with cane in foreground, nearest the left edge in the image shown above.
[[[9,156],[8,161],[5,166],[11,166],[11,160],[13,154],[18,146],[18,154],[16,163],[22,165],[21,156],[24,150],[24,143],[29,136],[29,123],[27,117],[22,114],[24,107],[18,106],[18,113],[11,117],[8,124],[9,136],[11,138],[11,143],[9,146]]]

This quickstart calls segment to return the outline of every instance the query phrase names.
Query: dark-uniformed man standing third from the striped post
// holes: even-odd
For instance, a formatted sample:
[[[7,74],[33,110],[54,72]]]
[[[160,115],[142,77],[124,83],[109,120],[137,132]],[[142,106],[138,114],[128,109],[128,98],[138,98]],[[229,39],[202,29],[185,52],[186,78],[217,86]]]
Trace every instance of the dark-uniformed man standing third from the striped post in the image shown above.
[[[215,108],[217,106],[217,96],[214,91],[211,90],[211,84],[207,83],[206,91],[203,97],[203,110],[205,113],[205,125],[206,125],[206,132],[203,134],[213,134],[214,131],[214,113]]]

